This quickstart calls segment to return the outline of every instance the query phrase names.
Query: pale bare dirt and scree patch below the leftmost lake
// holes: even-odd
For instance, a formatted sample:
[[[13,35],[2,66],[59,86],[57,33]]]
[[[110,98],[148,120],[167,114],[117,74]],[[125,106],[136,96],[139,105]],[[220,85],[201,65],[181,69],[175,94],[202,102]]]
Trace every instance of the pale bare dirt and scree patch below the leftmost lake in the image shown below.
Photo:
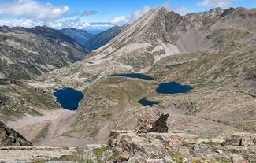
[[[63,136],[68,131],[76,112],[66,109],[44,112],[43,116],[26,115],[7,125],[20,132],[29,141],[35,141],[37,146],[85,146],[87,140]]]

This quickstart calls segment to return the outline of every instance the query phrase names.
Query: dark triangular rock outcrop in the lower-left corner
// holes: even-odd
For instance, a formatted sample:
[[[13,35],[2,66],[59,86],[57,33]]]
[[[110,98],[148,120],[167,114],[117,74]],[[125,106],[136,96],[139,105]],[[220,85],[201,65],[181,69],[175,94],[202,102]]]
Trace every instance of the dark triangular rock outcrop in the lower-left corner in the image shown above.
[[[32,146],[22,135],[0,122],[0,146]]]

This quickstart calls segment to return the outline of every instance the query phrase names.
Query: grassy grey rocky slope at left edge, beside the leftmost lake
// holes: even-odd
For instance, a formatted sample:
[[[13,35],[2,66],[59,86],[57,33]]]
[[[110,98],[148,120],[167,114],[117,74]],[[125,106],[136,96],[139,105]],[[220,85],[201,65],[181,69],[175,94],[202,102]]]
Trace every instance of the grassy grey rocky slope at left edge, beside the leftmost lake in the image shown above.
[[[52,91],[47,91],[46,87],[51,85],[0,79],[0,120],[42,116],[46,111],[61,109]]]

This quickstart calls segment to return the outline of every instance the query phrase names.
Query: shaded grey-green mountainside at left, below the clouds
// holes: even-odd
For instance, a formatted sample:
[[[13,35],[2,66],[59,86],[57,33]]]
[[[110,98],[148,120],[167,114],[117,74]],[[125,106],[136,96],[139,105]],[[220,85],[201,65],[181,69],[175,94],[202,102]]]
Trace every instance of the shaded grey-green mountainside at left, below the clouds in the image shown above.
[[[0,28],[0,77],[32,79],[83,59],[89,51],[53,28]]]

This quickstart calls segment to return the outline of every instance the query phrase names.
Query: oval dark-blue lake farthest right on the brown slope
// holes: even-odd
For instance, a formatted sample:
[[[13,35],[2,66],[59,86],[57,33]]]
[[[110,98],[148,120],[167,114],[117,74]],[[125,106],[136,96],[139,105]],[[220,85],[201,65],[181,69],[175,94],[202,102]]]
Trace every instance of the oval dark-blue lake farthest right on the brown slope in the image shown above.
[[[178,93],[187,93],[191,91],[193,87],[189,85],[182,85],[176,82],[170,83],[161,83],[157,88],[158,94],[178,94]]]

